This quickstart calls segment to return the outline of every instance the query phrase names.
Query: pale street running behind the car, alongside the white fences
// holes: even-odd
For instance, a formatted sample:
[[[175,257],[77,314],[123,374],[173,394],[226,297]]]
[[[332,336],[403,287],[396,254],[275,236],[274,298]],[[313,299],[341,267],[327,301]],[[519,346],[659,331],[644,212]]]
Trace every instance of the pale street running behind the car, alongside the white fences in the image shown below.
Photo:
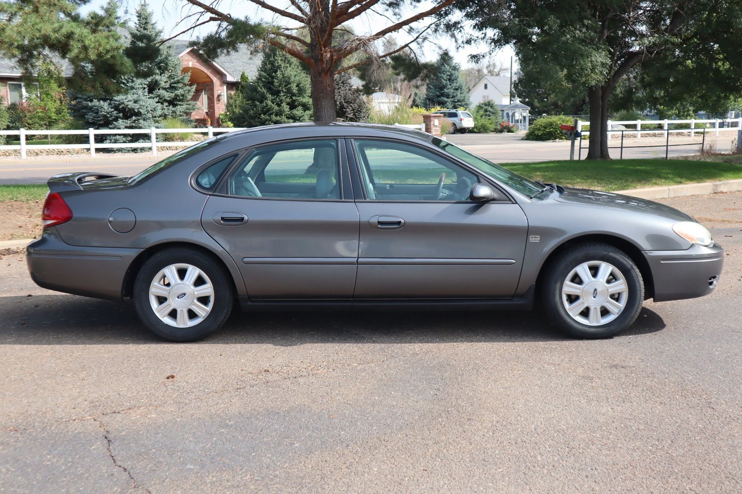
[[[456,134],[446,136],[451,142],[462,145],[473,153],[490,159],[493,162],[533,162],[548,161],[550,159],[569,159],[569,142],[536,142],[522,140],[522,134]],[[719,151],[728,151],[736,134],[722,133],[716,137],[706,136],[706,142],[714,142]],[[615,142],[614,142],[615,141]],[[619,145],[614,139],[611,145]],[[690,137],[673,136],[671,143],[686,144],[671,147],[670,157],[680,157],[686,154],[696,154],[700,148],[700,136]],[[582,157],[587,154],[588,142],[582,143]],[[657,145],[657,148],[626,148],[623,157],[628,158],[664,158],[665,139],[642,137],[631,139],[626,137],[626,146]],[[618,149],[611,149],[611,155],[619,157]],[[148,153],[140,154],[97,154],[96,157],[87,155],[67,157],[45,157],[29,159],[0,159],[0,184],[7,183],[45,183],[49,177],[73,171],[99,171],[118,174],[125,177],[136,174],[138,171],[162,159]],[[577,156],[577,151],[575,151]]]

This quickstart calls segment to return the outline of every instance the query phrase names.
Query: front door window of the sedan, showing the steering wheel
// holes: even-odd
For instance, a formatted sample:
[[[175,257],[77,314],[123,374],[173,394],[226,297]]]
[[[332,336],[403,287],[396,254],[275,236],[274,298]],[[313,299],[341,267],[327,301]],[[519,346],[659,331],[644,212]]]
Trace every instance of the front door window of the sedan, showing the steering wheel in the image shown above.
[[[476,175],[437,154],[398,142],[355,140],[367,199],[466,201]]]

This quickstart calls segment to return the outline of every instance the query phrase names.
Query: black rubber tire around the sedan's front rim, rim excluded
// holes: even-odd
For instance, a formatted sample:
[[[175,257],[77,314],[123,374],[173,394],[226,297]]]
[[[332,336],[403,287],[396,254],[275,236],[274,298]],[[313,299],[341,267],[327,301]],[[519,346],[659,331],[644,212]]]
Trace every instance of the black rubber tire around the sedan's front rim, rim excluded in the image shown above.
[[[608,297],[626,297],[623,311],[615,316],[613,320],[595,326],[576,320],[569,314],[565,307],[565,299],[567,303],[577,303],[582,297],[581,295],[562,295],[562,286],[565,285],[565,281],[571,271],[582,263],[590,263],[591,261],[608,263],[614,266],[623,275],[627,287],[626,295],[608,295]],[[568,335],[590,339],[612,337],[631,326],[642,309],[642,303],[644,301],[642,274],[637,268],[637,265],[634,264],[634,261],[631,260],[631,257],[628,257],[619,248],[605,243],[583,243],[568,248],[568,250],[559,254],[545,269],[547,271],[545,271],[541,287],[544,309],[551,321],[559,326],[559,329],[568,333]],[[592,273],[593,271],[591,271]],[[615,280],[613,276],[614,274],[611,274],[609,280]],[[580,283],[585,284],[581,278]],[[600,300],[597,290],[594,292],[588,291],[588,293],[593,294],[592,300]],[[589,299],[590,295],[588,294],[585,298]],[[591,307],[585,306],[585,312],[581,312],[577,317],[585,317],[587,319],[590,311]],[[602,314],[601,317],[603,317],[603,314],[608,315],[607,309],[603,307],[599,307],[597,311],[598,314]]]

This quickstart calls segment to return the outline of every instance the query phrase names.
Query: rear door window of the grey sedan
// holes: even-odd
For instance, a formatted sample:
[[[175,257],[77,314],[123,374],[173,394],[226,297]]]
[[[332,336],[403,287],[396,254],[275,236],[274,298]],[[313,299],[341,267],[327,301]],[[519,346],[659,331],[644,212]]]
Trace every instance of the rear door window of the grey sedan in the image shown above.
[[[229,179],[229,194],[281,199],[340,199],[338,143],[312,140],[252,151]]]

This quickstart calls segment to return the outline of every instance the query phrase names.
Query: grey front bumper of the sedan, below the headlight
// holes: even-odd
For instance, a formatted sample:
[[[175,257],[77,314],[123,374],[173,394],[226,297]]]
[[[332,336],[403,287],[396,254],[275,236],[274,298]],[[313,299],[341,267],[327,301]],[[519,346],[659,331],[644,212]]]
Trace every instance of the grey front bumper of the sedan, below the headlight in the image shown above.
[[[714,291],[724,265],[718,243],[685,251],[645,251],[654,280],[654,301],[703,297]]]

